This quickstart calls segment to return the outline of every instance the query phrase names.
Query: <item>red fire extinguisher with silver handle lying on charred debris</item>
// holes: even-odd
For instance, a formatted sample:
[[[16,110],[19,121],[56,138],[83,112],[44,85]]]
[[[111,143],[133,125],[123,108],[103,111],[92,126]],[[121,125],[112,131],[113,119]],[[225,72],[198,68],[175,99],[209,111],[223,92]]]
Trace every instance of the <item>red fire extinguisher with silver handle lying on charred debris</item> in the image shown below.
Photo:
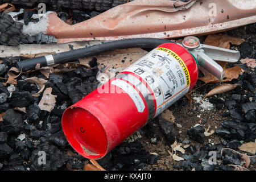
[[[188,93],[199,64],[221,80],[223,69],[213,59],[239,58],[238,51],[200,44],[192,36],[182,44],[161,44],[68,107],[62,117],[65,137],[85,158],[100,159]]]

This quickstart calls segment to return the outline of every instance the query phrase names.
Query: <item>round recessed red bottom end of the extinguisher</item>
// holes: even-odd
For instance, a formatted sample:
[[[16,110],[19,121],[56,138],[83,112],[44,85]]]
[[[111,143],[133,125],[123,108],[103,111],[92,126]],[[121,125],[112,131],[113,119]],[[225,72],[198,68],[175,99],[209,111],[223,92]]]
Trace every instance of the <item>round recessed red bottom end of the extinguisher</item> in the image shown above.
[[[100,121],[81,107],[69,107],[62,118],[65,137],[80,155],[88,159],[105,156],[108,139]]]

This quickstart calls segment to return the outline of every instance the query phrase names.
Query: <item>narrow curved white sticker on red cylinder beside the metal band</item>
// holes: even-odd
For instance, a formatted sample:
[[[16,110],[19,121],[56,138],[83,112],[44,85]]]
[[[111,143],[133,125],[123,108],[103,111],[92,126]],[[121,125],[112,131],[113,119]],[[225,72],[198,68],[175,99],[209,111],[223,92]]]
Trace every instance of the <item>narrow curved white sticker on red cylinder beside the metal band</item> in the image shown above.
[[[143,110],[145,109],[145,105],[144,102],[141,98],[141,96],[139,95],[139,93],[137,92],[137,90],[135,90],[133,88],[133,86],[131,86],[130,84],[128,84],[126,81],[123,80],[113,80],[111,82],[112,85],[118,86],[119,88],[125,90],[125,92],[127,94],[129,94],[129,96],[131,97],[131,99],[134,101],[134,104],[136,105],[138,112],[142,113]]]

